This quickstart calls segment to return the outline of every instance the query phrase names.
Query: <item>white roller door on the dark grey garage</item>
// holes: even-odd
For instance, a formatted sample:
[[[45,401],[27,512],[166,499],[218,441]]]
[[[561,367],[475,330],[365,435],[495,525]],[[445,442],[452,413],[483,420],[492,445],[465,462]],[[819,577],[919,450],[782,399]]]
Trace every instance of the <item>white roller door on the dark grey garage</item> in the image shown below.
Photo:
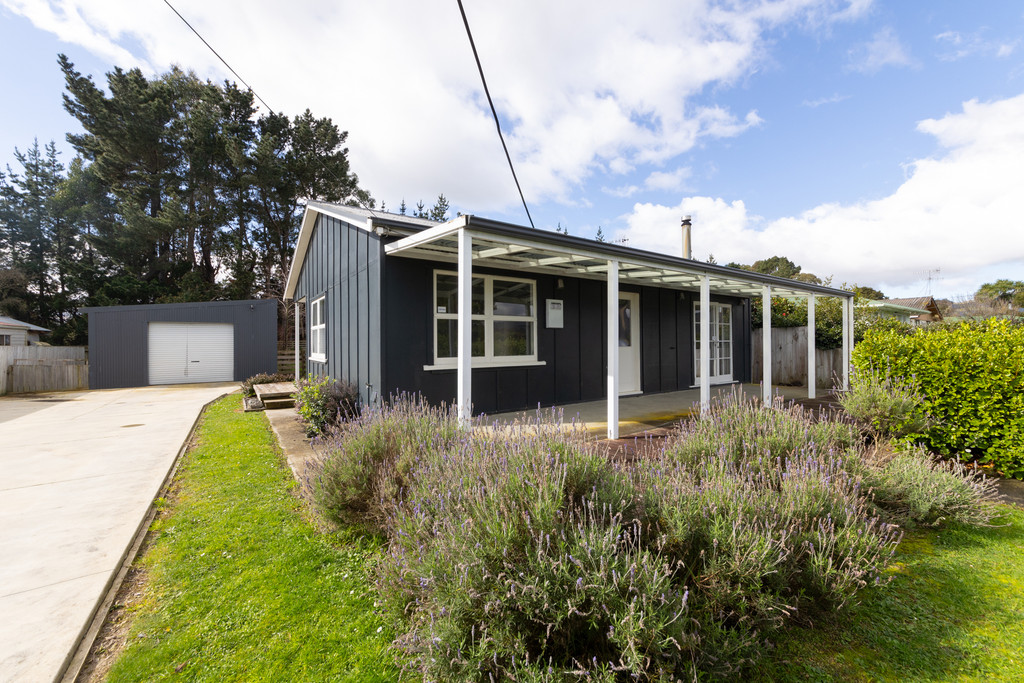
[[[229,323],[150,323],[150,384],[230,382],[234,326]]]

